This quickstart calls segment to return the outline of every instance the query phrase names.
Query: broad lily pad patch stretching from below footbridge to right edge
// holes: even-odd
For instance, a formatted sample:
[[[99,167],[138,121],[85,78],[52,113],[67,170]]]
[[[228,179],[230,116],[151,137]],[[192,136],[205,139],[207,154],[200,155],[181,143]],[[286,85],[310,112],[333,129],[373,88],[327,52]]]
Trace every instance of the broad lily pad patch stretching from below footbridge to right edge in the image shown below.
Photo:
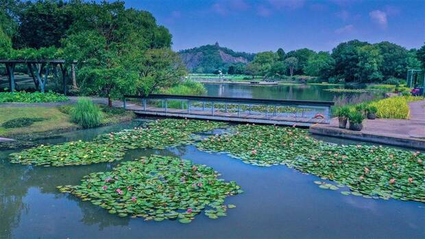
[[[257,166],[285,164],[369,197],[425,202],[425,154],[420,152],[329,144],[311,138],[305,129],[257,125],[238,125],[232,133],[206,138],[198,147],[227,152]]]

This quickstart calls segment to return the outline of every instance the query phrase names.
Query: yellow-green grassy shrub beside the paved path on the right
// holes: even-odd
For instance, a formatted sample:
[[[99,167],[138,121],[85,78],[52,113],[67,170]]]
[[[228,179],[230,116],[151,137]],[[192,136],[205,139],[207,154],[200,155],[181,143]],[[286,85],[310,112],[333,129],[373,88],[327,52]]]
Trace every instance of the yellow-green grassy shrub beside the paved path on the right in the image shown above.
[[[378,118],[409,118],[409,102],[418,101],[424,99],[423,97],[391,97],[387,99],[381,99],[380,101],[372,102],[378,110],[376,116]]]

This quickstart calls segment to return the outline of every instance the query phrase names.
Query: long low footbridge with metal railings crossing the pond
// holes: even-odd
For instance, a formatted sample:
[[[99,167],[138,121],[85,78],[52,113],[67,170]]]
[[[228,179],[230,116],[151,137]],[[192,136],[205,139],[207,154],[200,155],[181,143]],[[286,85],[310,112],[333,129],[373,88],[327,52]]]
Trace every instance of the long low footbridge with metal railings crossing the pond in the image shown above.
[[[126,96],[126,98],[132,97]],[[133,101],[125,102],[125,109],[146,116],[300,126],[328,124],[330,106],[333,105],[332,102],[320,101],[278,101],[172,95],[149,95],[149,97],[134,98],[140,99],[140,101],[133,99]],[[148,100],[153,100],[153,102]],[[167,107],[167,102],[173,102],[173,108]],[[176,105],[180,105],[179,102],[181,108],[176,108]],[[262,111],[258,110],[258,107],[261,107]],[[276,110],[279,107],[291,110],[279,112]]]

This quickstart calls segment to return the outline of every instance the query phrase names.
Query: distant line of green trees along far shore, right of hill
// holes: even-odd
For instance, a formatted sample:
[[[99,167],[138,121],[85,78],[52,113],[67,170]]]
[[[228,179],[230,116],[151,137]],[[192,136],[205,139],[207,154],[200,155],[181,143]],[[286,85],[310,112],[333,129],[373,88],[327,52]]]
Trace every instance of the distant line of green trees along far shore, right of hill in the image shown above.
[[[345,82],[381,82],[391,77],[405,78],[411,68],[425,68],[425,45],[407,50],[391,42],[369,44],[359,40],[343,42],[332,52],[298,49],[285,53],[257,53],[246,66],[238,66],[239,73],[280,78],[287,75],[308,75],[319,79]],[[229,66],[234,73],[236,66]]]

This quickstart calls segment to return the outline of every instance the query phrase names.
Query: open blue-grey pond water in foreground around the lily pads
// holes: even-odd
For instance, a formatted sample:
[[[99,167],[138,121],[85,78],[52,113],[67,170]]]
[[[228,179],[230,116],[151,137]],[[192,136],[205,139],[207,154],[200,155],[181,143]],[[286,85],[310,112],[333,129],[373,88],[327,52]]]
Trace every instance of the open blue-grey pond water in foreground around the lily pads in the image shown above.
[[[91,140],[97,134],[132,128],[133,123],[73,131],[60,143]],[[346,143],[346,142],[345,142]],[[10,164],[0,152],[0,238],[424,238],[425,205],[394,199],[344,196],[323,190],[306,175],[286,166],[261,168],[194,146],[128,151],[125,160],[152,153],[175,155],[207,164],[221,178],[236,181],[243,194],[226,198],[236,205],[228,216],[212,220],[203,214],[189,224],[119,218],[87,201],[58,192],[77,185],[84,175],[110,171],[118,164],[33,167]]]

